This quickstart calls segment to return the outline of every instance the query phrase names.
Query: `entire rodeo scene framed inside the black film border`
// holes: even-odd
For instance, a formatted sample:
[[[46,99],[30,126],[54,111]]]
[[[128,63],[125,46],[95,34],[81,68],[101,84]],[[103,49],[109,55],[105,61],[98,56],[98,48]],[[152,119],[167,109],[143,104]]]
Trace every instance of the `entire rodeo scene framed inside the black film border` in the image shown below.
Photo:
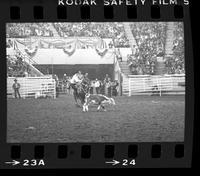
[[[182,22],[7,23],[7,142],[184,141]]]

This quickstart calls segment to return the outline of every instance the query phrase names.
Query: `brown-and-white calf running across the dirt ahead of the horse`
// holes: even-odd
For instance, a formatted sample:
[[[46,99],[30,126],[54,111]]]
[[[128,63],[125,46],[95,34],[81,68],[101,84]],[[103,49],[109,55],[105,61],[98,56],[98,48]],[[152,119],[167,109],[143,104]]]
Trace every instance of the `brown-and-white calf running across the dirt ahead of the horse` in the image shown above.
[[[97,110],[100,110],[102,108],[104,111],[106,111],[103,104],[108,103],[108,104],[115,105],[115,100],[113,98],[108,98],[105,95],[101,95],[101,94],[94,94],[94,95],[86,94],[85,103],[83,104],[83,112],[86,112],[89,110],[88,106],[91,103],[98,105]]]

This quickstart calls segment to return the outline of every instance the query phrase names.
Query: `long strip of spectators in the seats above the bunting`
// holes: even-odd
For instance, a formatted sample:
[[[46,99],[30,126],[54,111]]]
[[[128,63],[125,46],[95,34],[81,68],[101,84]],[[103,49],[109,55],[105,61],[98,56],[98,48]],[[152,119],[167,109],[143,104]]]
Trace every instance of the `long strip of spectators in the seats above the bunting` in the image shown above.
[[[115,47],[129,46],[122,23],[8,23],[6,30],[13,38],[54,37],[52,28],[60,37],[112,38]]]

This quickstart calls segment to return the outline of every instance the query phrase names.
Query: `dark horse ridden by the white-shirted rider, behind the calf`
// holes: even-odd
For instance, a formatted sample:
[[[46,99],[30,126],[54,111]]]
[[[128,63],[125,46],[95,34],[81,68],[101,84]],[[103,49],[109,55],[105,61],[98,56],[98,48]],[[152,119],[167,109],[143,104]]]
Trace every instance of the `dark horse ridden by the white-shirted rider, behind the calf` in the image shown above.
[[[73,89],[73,96],[75,100],[75,104],[78,107],[82,107],[83,104],[85,103],[85,95],[89,92],[90,90],[90,85],[85,82],[80,82],[80,83],[70,83],[70,86]],[[80,102],[79,102],[80,101]]]

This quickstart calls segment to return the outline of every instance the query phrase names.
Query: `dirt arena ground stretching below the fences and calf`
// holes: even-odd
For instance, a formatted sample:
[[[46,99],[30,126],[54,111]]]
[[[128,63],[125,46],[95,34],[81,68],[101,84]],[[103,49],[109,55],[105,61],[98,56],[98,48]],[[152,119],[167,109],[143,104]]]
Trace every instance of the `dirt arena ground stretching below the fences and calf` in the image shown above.
[[[71,95],[8,99],[7,142],[164,142],[184,140],[184,96],[116,97],[107,112],[83,113]]]

